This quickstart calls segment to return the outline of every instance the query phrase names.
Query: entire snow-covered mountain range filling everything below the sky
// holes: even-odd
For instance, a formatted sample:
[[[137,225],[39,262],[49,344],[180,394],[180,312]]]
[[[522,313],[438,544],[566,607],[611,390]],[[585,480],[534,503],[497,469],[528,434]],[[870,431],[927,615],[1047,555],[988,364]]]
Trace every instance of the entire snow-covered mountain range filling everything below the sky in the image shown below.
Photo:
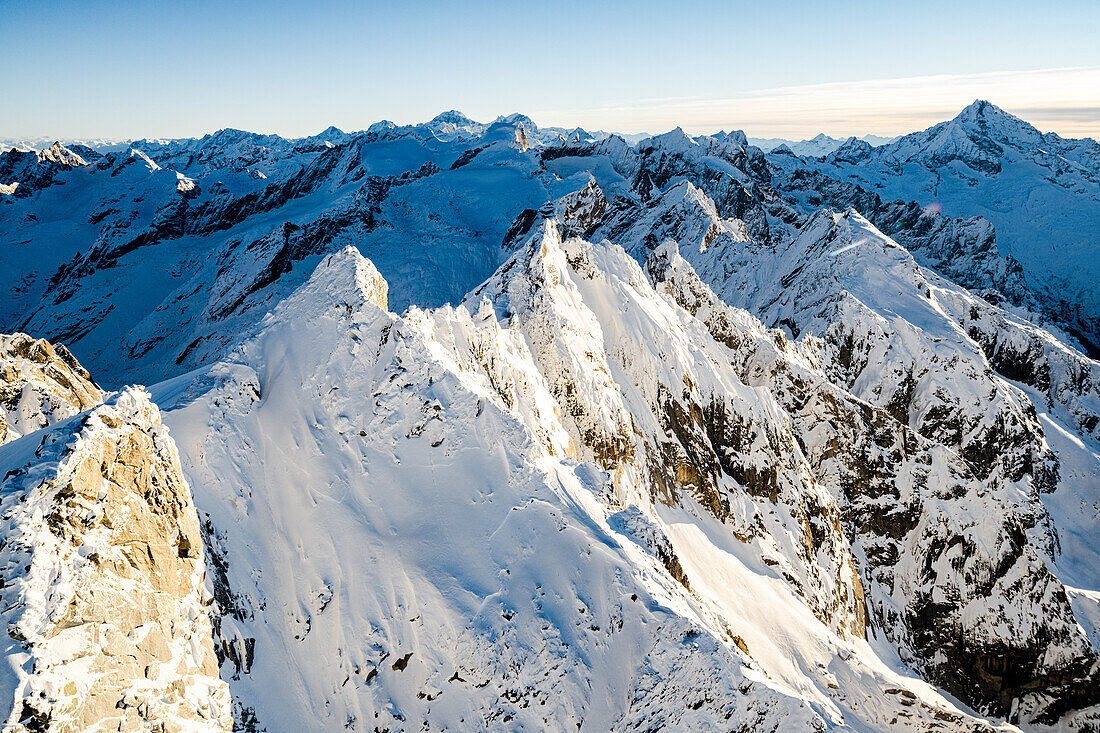
[[[1100,152],[806,145],[0,154],[4,731],[1098,730]]]

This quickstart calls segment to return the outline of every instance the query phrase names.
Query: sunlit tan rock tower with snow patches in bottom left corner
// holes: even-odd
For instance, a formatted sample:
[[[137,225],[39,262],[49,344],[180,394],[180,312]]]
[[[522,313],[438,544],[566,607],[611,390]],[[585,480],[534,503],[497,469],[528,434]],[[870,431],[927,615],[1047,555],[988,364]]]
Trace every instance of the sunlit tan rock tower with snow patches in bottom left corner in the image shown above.
[[[0,449],[4,731],[229,731],[202,536],[148,395]]]

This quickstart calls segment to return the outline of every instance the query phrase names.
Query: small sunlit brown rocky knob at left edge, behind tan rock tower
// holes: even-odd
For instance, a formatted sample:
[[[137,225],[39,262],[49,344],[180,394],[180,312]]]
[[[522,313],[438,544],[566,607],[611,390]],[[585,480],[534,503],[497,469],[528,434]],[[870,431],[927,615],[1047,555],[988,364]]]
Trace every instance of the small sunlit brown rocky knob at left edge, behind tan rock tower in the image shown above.
[[[0,444],[97,404],[102,390],[63,346],[0,335]]]

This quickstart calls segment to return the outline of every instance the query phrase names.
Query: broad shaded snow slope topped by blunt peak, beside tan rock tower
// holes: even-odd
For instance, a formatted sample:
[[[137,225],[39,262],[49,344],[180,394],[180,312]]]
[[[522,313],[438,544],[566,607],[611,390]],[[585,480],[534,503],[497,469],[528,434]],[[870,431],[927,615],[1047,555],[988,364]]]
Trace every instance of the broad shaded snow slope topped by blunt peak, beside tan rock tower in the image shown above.
[[[651,521],[613,519],[603,472],[560,458],[522,335],[491,307],[385,313],[356,258],[170,386],[245,719],[821,730],[746,676]]]

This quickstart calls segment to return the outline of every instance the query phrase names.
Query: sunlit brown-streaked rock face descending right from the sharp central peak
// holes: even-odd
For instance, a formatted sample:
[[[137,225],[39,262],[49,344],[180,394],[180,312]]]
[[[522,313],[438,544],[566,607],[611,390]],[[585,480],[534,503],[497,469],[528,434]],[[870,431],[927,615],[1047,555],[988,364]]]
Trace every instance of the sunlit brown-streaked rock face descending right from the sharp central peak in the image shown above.
[[[622,249],[563,242],[544,222],[469,302],[492,299],[525,333],[576,457],[610,471],[620,501],[679,505],[690,496],[758,543],[822,623],[861,637],[864,592],[836,504],[812,481],[781,408],[740,382],[698,324],[656,296]],[[651,300],[657,313],[631,313]],[[616,313],[630,314],[632,331]],[[695,350],[682,353],[680,342]]]

